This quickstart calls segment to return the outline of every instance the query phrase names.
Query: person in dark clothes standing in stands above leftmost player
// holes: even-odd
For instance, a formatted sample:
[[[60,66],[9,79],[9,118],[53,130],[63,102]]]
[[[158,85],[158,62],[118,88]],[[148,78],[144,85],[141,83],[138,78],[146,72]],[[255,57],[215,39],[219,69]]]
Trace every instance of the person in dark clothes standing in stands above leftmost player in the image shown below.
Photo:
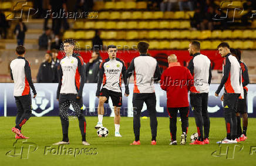
[[[26,25],[22,22],[22,19],[19,19],[19,23],[15,26],[14,34],[16,35],[18,45],[24,44]]]

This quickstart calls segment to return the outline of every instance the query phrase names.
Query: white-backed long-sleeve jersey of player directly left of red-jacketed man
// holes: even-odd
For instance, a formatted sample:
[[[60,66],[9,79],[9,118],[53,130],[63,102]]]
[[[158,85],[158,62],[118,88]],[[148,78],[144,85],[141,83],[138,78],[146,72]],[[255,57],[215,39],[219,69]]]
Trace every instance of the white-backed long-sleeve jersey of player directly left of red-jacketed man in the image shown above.
[[[155,58],[140,54],[133,58],[126,71],[127,77],[134,74],[133,93],[154,93],[154,81],[161,79],[161,71]]]

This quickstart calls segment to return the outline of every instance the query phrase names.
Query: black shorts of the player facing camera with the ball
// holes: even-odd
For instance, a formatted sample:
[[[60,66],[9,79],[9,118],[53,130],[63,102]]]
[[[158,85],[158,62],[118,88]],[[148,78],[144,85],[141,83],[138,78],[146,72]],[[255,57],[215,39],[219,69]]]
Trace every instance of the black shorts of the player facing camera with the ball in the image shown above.
[[[111,97],[113,106],[122,106],[122,92],[114,92],[109,89],[102,88],[100,90],[100,96],[105,96],[107,98],[105,103],[109,103],[109,97]]]

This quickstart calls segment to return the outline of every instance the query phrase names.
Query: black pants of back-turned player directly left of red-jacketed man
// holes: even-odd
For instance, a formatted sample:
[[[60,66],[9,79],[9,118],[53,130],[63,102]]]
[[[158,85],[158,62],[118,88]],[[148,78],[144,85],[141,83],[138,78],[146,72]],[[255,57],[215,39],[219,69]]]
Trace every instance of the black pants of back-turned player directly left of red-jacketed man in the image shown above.
[[[149,111],[150,127],[152,140],[156,140],[157,136],[157,118],[156,118],[156,94],[143,93],[133,94],[133,131],[135,141],[140,140],[140,113],[143,108],[143,103],[146,103],[147,110]]]

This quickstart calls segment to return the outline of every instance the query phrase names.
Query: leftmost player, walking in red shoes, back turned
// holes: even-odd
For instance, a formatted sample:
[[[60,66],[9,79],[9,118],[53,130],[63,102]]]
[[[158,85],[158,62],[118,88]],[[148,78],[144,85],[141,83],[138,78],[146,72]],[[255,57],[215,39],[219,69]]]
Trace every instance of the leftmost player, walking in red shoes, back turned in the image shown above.
[[[18,113],[16,116],[16,126],[12,127],[12,132],[16,133],[15,139],[29,139],[21,133],[21,127],[31,117],[31,93],[32,88],[33,98],[36,97],[36,89],[31,78],[31,69],[28,60],[25,60],[25,47],[16,47],[15,54],[18,56],[12,60],[11,78],[14,80],[14,98]]]

